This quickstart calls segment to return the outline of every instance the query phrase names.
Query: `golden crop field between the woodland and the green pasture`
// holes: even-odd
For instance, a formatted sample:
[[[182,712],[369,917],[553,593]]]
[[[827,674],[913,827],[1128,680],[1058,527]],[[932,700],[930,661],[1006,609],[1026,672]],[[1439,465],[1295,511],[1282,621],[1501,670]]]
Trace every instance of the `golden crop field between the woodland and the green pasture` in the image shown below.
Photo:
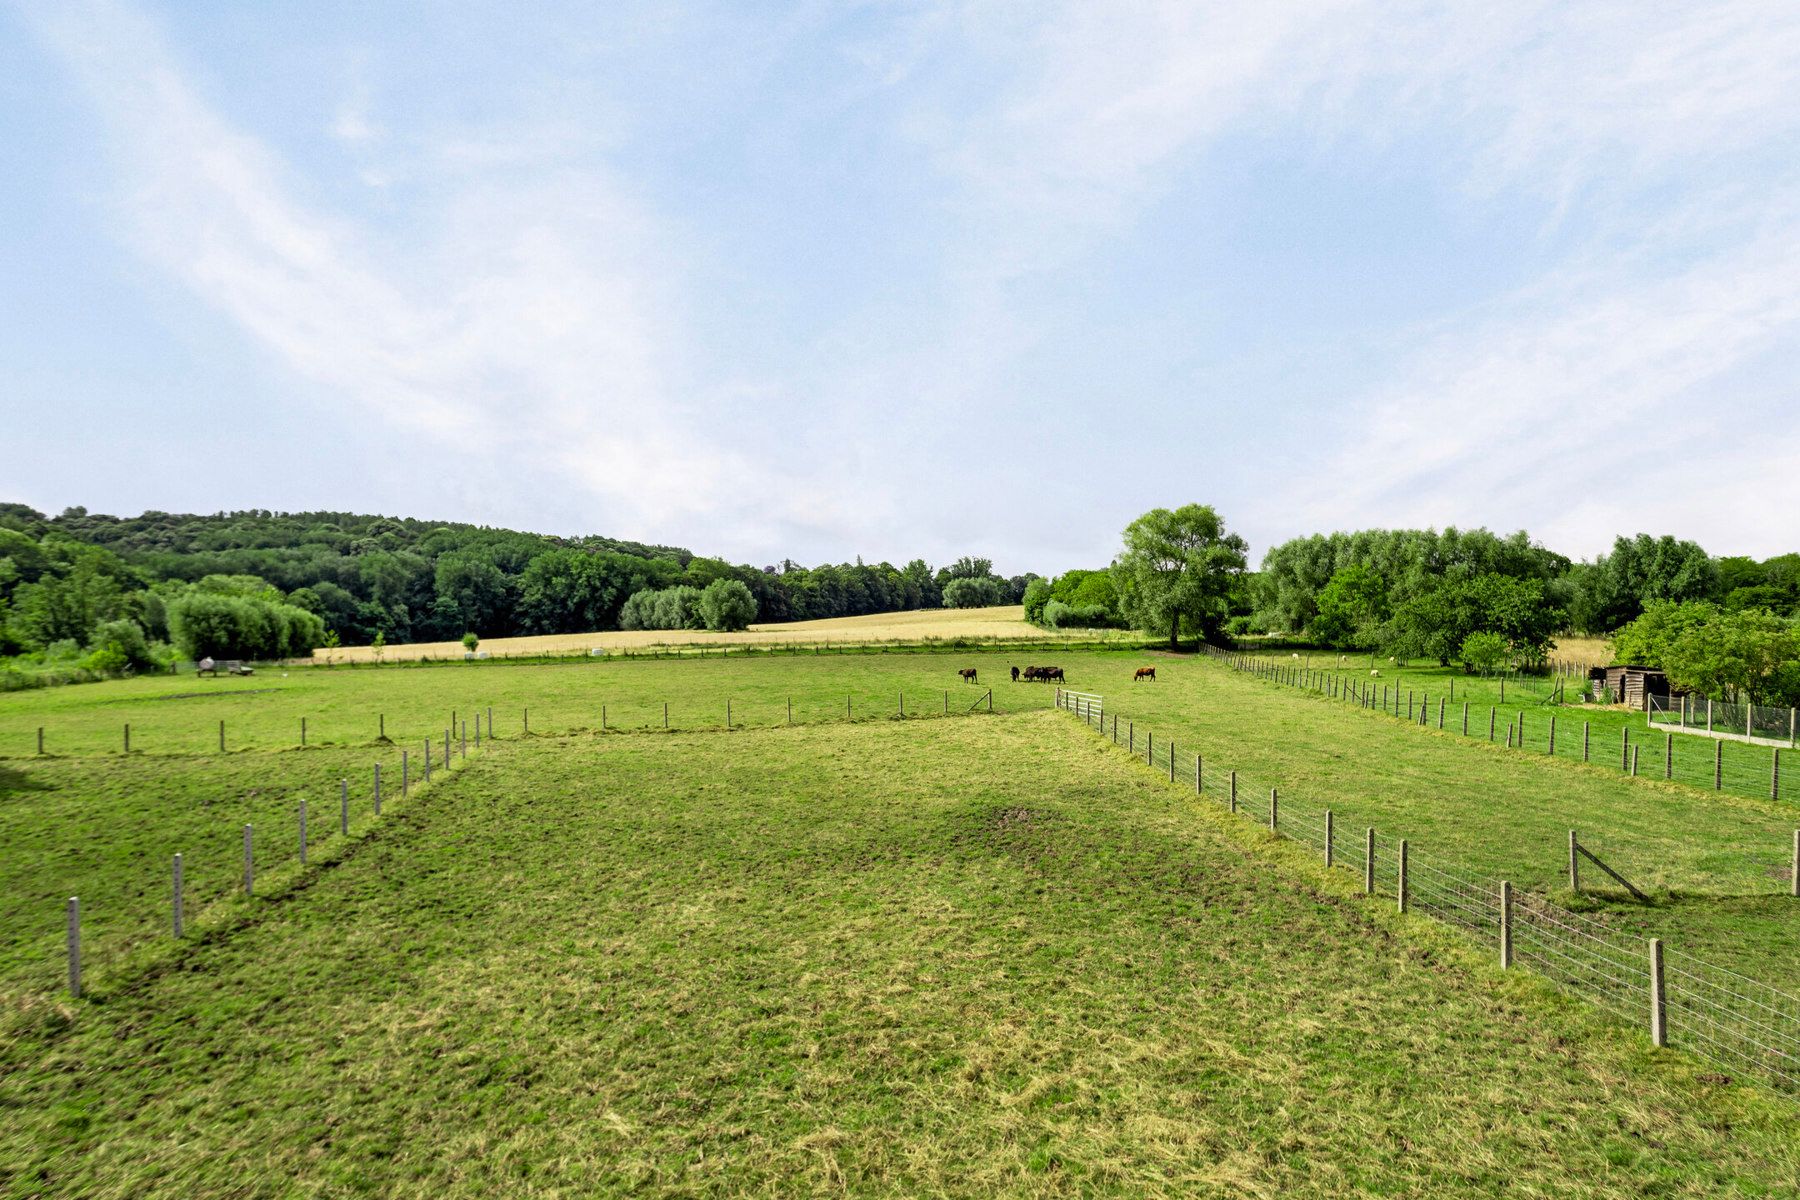
[[[1121,630],[1078,631],[1082,640],[1123,639]],[[682,646],[824,646],[873,642],[952,642],[952,640],[1028,640],[1051,637],[1046,630],[1028,624],[1021,604],[997,608],[923,608],[916,612],[884,612],[866,617],[830,617],[824,621],[790,621],[785,624],[752,624],[742,633],[709,633],[707,630],[612,630],[607,633],[544,633],[538,637],[482,639],[481,651],[491,658],[529,655],[578,655],[603,649],[644,651],[675,649]],[[416,658],[461,658],[461,642],[409,642],[382,649],[382,662],[409,662]],[[369,646],[338,646],[315,649],[315,662],[374,662]]]

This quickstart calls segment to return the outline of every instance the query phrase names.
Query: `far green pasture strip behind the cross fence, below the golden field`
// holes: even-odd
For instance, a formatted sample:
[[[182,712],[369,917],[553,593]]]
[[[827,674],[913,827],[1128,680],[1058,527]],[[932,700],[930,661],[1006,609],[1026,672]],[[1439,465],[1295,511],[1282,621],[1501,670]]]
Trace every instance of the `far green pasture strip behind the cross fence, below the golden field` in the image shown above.
[[[38,729],[52,756],[401,745],[443,738],[479,712],[499,738],[608,729],[718,729],[792,720],[839,721],[967,712],[990,687],[994,711],[1049,707],[1053,687],[1013,685],[1010,666],[1066,662],[1071,685],[1103,684],[1125,669],[1116,653],[869,651],[592,658],[536,664],[455,662],[387,667],[270,667],[250,678],[144,676],[113,684],[0,694],[0,757],[36,754]],[[1080,666],[1075,666],[1080,664]],[[958,676],[976,667],[977,684]],[[983,707],[986,707],[983,703]]]

